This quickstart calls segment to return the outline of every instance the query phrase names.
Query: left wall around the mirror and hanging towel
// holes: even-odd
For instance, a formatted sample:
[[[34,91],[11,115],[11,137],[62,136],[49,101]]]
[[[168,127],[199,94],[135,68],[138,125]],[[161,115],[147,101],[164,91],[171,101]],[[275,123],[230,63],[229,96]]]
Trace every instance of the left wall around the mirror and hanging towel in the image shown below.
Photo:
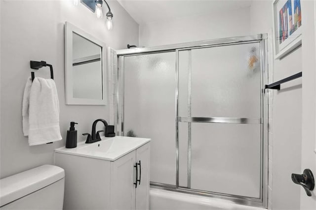
[[[65,105],[64,23],[69,21],[114,49],[138,44],[138,24],[116,0],[109,0],[114,14],[113,30],[108,31],[102,20],[82,4],[73,0],[1,0],[1,173],[5,177],[43,164],[53,163],[53,150],[65,145],[66,131],[71,121],[77,125],[78,140],[91,132],[92,122],[113,115],[113,82],[108,77],[107,106]],[[104,13],[106,9],[104,8]],[[112,53],[113,54],[113,53]],[[62,141],[40,146],[28,145],[22,133],[22,96],[27,78],[31,75],[30,60],[45,60],[54,67],[54,81],[60,103]],[[107,65],[108,66],[108,65]],[[111,66],[108,66],[111,67]],[[42,68],[36,76],[49,77]],[[109,74],[112,75],[112,72]],[[110,97],[111,96],[111,97]],[[110,108],[111,107],[111,108]],[[101,126],[101,125],[100,125]]]

